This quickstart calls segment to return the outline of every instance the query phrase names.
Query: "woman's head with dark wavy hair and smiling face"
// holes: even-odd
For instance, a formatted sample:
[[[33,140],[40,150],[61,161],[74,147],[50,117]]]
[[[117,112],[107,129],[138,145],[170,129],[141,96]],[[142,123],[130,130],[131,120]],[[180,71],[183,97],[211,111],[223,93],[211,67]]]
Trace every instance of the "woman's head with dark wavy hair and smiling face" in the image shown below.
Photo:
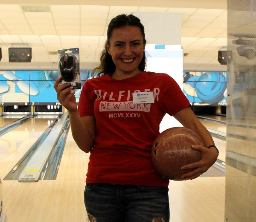
[[[100,59],[101,65],[93,70],[93,76],[111,74],[112,78],[116,76],[116,78],[122,79],[128,76],[132,77],[145,70],[144,26],[139,19],[134,18],[137,17],[132,15],[126,17],[123,14],[111,20],[108,25],[107,41]],[[125,76],[122,76],[124,73],[121,70],[125,64],[126,71],[123,70]],[[119,69],[121,73],[118,74],[117,70]]]

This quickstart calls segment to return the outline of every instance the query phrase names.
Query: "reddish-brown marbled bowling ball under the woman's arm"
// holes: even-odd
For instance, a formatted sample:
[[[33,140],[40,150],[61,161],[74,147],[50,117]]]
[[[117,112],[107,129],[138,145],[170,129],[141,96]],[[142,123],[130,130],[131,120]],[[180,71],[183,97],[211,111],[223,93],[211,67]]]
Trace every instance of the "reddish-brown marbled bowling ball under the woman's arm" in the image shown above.
[[[154,167],[164,178],[183,180],[181,176],[193,169],[181,170],[181,167],[201,159],[201,152],[192,149],[191,145],[203,145],[194,131],[184,127],[163,131],[152,145],[151,158]]]

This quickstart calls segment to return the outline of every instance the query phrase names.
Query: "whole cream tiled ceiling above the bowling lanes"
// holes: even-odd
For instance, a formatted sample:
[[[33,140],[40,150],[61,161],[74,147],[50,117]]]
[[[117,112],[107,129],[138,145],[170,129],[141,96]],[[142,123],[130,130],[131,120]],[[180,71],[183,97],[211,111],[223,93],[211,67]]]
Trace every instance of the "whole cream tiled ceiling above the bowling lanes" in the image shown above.
[[[122,0],[110,0],[106,6],[100,5],[99,2],[95,2],[96,5],[79,5],[82,1],[77,1],[72,5],[65,0],[62,4],[52,0],[52,5],[41,7],[36,5],[37,2],[33,1],[32,6],[26,4],[26,8],[44,8],[48,12],[24,12],[22,5],[17,3],[0,4],[2,68],[57,67],[57,55],[52,53],[58,49],[76,47],[79,47],[81,52],[81,67],[94,68],[99,63],[99,55],[105,45],[109,21],[118,14],[130,14],[135,11],[181,14],[181,43],[184,53],[188,53],[184,57],[184,69],[226,68],[217,61],[217,51],[227,45],[227,9],[224,5],[209,4],[202,0],[199,3],[199,0],[196,0],[193,3],[187,1],[189,4],[184,4],[183,1],[137,1],[136,6],[130,6],[127,1],[122,5]],[[244,16],[242,12],[241,16]],[[52,37],[45,37],[47,35]],[[202,41],[202,37],[215,40]],[[9,63],[8,47],[11,46],[32,47],[32,62]]]

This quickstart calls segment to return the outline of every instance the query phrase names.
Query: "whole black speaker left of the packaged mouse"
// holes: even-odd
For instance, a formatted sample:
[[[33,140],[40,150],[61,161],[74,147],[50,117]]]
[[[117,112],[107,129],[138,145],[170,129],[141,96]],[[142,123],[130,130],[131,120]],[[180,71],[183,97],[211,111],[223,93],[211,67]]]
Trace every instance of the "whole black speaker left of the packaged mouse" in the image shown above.
[[[9,48],[9,63],[30,63],[32,48]]]

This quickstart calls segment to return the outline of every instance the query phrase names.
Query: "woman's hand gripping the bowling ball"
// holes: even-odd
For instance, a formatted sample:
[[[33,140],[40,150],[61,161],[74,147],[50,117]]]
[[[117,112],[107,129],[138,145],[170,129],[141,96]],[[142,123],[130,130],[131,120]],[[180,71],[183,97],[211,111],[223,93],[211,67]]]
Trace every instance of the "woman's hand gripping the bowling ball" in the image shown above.
[[[184,180],[195,179],[205,173],[217,160],[218,151],[216,148],[206,148],[200,145],[192,145],[192,149],[201,152],[201,159],[198,162],[194,162],[181,167],[182,170],[194,169],[189,173],[183,174],[181,177]]]

